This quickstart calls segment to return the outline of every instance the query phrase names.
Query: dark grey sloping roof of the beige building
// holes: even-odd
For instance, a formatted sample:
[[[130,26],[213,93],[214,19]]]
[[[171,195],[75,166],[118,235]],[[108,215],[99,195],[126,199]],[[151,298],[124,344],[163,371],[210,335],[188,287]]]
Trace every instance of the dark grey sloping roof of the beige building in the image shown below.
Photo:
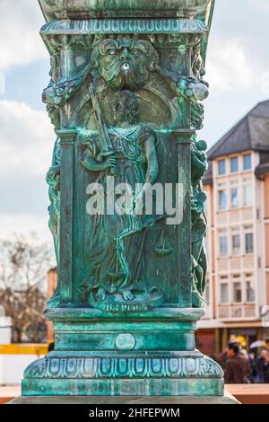
[[[259,102],[222,136],[209,150],[208,159],[249,150],[269,151],[269,101]]]

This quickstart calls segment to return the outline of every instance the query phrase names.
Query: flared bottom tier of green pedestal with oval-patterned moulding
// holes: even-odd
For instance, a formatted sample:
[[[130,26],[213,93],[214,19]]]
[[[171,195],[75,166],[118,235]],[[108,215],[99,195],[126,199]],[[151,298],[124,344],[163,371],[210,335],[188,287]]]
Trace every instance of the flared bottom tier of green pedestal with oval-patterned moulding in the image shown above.
[[[26,369],[22,395],[222,396],[223,386],[221,367],[198,351],[133,356],[55,353]]]

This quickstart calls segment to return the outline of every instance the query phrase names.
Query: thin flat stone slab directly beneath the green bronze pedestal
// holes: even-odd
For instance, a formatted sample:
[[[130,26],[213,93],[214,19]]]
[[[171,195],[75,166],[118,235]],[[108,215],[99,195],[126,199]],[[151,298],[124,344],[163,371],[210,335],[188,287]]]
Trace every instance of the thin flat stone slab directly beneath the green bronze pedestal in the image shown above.
[[[170,404],[170,405],[180,405],[180,404],[240,404],[229,392],[225,391],[224,396],[221,397],[105,397],[105,396],[95,396],[95,397],[70,397],[70,396],[49,396],[49,397],[18,397],[12,401],[9,401],[7,404],[88,404],[88,405],[106,405],[106,404]]]

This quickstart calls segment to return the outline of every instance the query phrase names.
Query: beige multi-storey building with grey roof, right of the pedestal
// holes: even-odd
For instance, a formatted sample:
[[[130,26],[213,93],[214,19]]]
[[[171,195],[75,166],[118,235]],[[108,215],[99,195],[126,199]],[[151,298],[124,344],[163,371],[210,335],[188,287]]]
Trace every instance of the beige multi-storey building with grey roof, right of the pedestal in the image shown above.
[[[219,353],[230,335],[247,346],[269,333],[269,101],[259,103],[213,145],[204,178],[208,193],[207,311],[198,346]]]

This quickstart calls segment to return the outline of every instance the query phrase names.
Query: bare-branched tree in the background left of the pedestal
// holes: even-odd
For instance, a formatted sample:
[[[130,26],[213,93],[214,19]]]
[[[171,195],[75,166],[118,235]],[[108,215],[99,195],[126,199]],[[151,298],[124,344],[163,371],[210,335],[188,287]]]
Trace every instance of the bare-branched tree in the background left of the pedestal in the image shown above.
[[[21,342],[26,330],[39,341],[46,305],[46,274],[55,266],[52,249],[35,234],[16,234],[0,240],[0,303],[13,320],[13,340]],[[37,327],[37,330],[34,329]]]

